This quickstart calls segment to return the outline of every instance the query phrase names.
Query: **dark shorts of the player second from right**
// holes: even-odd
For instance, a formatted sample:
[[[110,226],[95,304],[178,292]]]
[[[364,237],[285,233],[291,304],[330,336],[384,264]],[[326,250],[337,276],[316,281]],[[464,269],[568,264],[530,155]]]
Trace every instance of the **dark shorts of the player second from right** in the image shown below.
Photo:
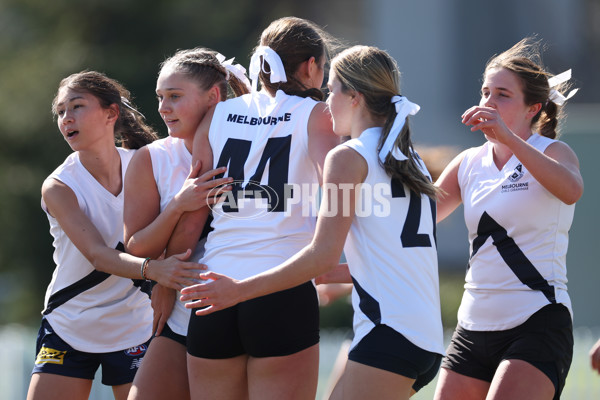
[[[348,359],[415,379],[418,392],[435,378],[442,355],[415,346],[387,325],[376,325],[348,354]]]

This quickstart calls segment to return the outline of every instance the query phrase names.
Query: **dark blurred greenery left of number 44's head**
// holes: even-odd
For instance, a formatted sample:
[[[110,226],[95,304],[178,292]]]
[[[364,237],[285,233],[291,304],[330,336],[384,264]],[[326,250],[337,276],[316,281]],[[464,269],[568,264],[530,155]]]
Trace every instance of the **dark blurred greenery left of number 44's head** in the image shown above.
[[[0,325],[39,323],[54,269],[40,187],[70,153],[50,112],[60,80],[83,69],[106,73],[164,135],[154,94],[159,63],[205,46],[248,65],[262,29],[287,14],[280,3],[0,1]]]

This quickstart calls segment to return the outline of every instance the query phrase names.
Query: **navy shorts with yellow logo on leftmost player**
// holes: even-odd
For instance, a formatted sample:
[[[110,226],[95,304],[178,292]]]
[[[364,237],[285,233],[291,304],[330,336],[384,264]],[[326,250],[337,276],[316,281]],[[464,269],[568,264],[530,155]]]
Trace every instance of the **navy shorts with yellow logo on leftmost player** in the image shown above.
[[[75,350],[62,340],[48,321],[42,319],[36,343],[36,359],[32,374],[48,373],[93,380],[102,365],[102,383],[108,386],[133,382],[148,342],[110,353],[87,353]]]

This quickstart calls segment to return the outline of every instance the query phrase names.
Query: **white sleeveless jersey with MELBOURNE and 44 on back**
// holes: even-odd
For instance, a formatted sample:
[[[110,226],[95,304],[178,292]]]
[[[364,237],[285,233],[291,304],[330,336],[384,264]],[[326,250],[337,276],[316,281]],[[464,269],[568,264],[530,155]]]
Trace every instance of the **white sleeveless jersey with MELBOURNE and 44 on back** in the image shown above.
[[[318,179],[307,125],[316,104],[278,91],[275,98],[260,92],[216,106],[209,131],[213,167],[227,166],[234,190],[213,207],[214,231],[202,259],[210,270],[244,279],[287,260],[312,239],[316,212],[307,208],[310,203],[316,210]],[[300,201],[300,192],[309,190],[315,196]]]

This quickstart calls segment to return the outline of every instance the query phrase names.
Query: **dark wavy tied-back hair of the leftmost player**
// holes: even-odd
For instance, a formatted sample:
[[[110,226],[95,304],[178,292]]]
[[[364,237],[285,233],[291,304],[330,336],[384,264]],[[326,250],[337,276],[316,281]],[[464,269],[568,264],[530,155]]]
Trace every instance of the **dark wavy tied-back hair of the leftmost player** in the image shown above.
[[[58,92],[68,88],[76,92],[89,93],[96,97],[102,108],[112,104],[119,106],[119,117],[115,122],[115,141],[126,149],[140,147],[158,139],[154,130],[144,122],[144,116],[131,102],[131,94],[118,81],[101,72],[82,71],[69,75],[60,81],[58,91],[52,101],[52,113],[56,116]]]

